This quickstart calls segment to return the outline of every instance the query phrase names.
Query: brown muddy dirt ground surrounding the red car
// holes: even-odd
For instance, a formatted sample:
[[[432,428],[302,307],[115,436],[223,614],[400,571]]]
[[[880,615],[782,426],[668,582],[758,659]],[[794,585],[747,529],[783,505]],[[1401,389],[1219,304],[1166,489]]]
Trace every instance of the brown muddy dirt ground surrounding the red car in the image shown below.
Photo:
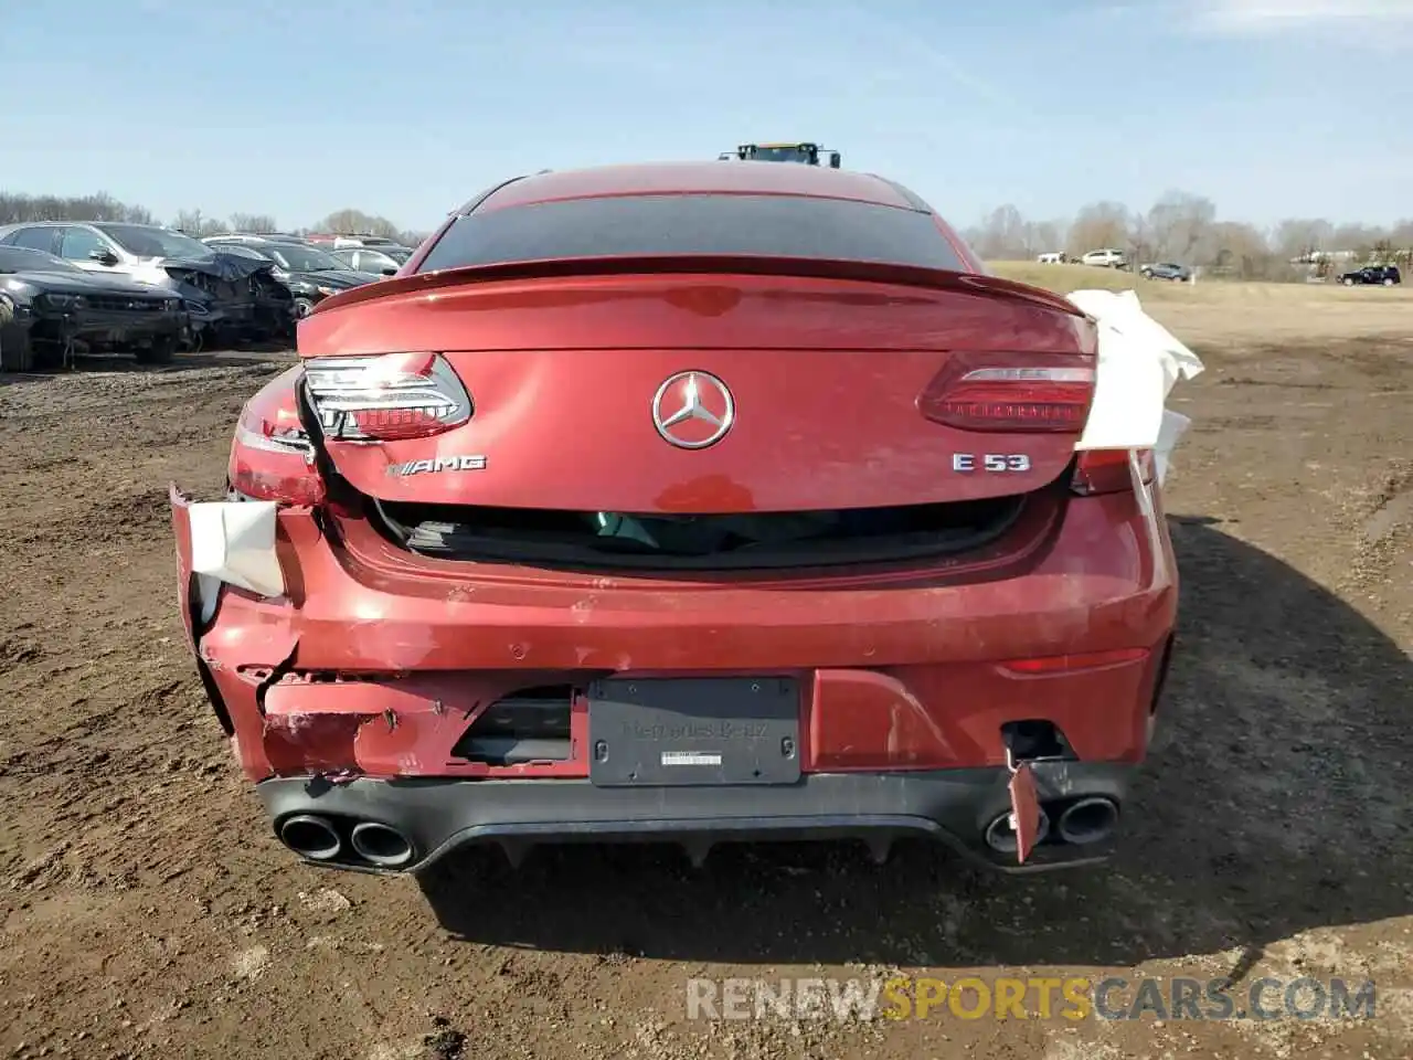
[[[219,489],[284,362],[0,377],[0,1056],[1410,1056],[1413,300],[1153,305],[1208,366],[1177,404],[1163,735],[1121,856],[1020,881],[923,847],[701,871],[551,849],[425,886],[297,865],[182,646],[165,500]],[[897,970],[1231,977],[1238,998],[1372,978],[1376,1015],[687,1018],[690,977]]]

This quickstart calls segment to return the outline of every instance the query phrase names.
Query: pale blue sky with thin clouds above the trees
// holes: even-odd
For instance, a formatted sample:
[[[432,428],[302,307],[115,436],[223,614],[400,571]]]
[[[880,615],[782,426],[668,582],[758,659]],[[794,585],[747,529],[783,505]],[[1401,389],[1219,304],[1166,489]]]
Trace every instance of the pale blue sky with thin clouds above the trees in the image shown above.
[[[1178,188],[1413,215],[1413,0],[6,6],[0,187],[427,229],[538,168],[821,140],[958,225]]]

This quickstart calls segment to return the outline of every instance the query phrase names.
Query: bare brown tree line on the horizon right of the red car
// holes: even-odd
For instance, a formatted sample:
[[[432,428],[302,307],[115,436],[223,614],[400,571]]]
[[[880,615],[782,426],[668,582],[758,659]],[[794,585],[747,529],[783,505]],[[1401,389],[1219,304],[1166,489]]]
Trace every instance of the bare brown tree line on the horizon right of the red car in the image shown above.
[[[1146,212],[1105,201],[1065,220],[1029,220],[1015,206],[999,206],[964,235],[989,261],[1116,249],[1130,261],[1202,266],[1246,280],[1297,278],[1308,269],[1293,263],[1340,252],[1355,261],[1413,263],[1413,218],[1388,228],[1287,218],[1262,229],[1225,220],[1211,199],[1184,191],[1166,192]]]

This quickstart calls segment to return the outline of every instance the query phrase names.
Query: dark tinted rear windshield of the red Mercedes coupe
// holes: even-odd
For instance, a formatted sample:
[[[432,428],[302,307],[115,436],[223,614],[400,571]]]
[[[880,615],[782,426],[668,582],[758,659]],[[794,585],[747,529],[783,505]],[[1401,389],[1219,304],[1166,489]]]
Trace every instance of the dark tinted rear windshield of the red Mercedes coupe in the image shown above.
[[[791,195],[632,195],[461,218],[420,271],[639,254],[770,254],[965,271],[928,213]]]

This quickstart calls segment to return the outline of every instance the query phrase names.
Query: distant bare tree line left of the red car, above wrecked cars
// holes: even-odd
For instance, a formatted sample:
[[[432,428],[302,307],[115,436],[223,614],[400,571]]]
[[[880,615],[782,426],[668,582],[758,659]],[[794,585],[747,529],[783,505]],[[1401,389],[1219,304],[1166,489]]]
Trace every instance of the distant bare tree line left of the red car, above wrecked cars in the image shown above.
[[[184,209],[164,222],[146,206],[120,202],[106,192],[93,195],[23,195],[0,192],[0,225],[25,220],[119,220],[134,225],[168,223],[189,236],[202,239],[222,232],[252,232],[309,235],[314,232],[362,232],[370,236],[396,239],[404,246],[417,246],[425,232],[401,229],[387,218],[360,209],[339,209],[315,225],[285,229],[268,213],[232,213],[220,218],[199,209]]]

